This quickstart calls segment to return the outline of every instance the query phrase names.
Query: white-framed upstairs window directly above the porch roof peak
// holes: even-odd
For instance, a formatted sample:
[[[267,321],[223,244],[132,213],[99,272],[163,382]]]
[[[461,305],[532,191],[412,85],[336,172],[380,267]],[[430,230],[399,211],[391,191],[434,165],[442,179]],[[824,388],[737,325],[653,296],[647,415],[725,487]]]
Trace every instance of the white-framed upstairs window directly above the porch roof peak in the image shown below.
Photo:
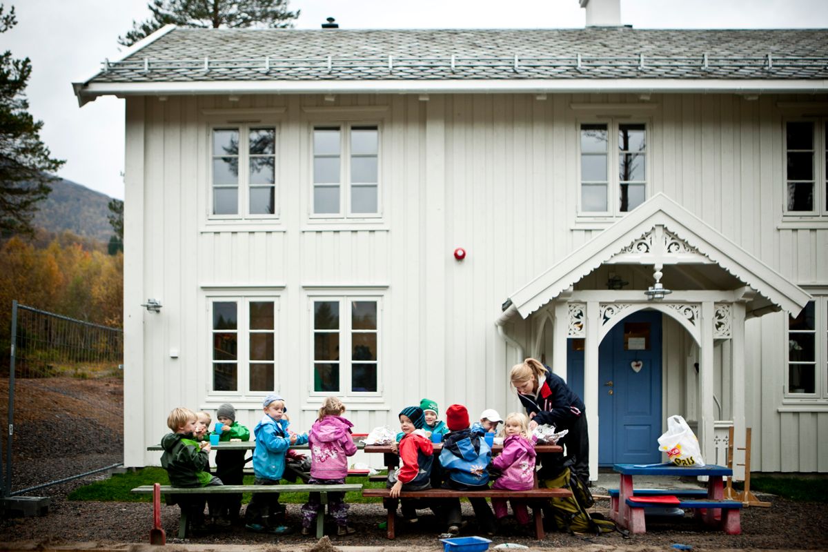
[[[580,209],[584,216],[617,217],[647,199],[647,125],[580,125]]]

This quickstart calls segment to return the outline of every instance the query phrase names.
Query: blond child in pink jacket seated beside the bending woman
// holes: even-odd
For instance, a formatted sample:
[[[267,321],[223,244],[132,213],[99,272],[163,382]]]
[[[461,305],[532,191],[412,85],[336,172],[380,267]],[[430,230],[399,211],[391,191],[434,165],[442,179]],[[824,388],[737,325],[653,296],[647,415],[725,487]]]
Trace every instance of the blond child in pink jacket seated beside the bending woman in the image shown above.
[[[506,416],[503,430],[506,433],[503,452],[492,460],[492,465],[501,470],[502,474],[494,482],[492,488],[509,491],[531,489],[535,484],[535,444],[529,438],[529,417],[513,412]],[[529,511],[526,501],[513,499],[511,502],[517,523],[527,527]],[[492,506],[498,522],[503,520],[507,513],[506,499],[493,498]]]

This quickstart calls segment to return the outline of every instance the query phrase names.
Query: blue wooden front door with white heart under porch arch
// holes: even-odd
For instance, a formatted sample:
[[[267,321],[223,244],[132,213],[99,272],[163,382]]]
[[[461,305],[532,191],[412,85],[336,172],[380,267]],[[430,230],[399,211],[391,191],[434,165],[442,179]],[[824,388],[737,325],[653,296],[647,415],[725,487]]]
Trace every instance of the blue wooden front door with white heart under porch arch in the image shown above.
[[[662,314],[630,314],[598,351],[598,463],[657,463],[662,417]],[[587,405],[589,408],[589,405]]]

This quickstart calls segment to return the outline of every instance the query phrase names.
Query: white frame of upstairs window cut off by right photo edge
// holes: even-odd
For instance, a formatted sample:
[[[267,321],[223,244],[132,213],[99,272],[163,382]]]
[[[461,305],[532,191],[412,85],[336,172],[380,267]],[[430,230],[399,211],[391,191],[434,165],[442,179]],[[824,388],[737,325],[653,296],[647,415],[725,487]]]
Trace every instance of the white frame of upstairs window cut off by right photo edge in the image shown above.
[[[789,122],[811,122],[813,128],[813,177],[814,177],[814,207],[811,211],[791,211],[787,209],[787,123]],[[820,221],[828,222],[828,167],[826,167],[826,152],[828,152],[828,140],[826,140],[826,128],[828,118],[786,118],[782,121],[782,213],[783,218],[789,221]],[[793,150],[801,151],[801,150]]]

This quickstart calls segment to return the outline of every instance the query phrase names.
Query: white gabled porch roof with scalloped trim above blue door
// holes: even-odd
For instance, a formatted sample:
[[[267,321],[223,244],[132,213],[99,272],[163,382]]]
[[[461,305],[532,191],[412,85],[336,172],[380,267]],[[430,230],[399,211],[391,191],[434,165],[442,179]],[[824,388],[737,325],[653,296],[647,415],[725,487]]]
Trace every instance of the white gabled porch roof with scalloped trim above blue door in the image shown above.
[[[725,238],[667,195],[659,193],[509,295],[511,305],[503,312],[499,323],[502,324],[515,313],[527,318],[575,286],[590,272],[622,254],[625,248],[658,225],[667,228],[676,238],[729,273],[731,280],[736,279],[755,290],[756,296],[749,300],[749,314],[762,314],[759,311],[767,310],[768,306],[772,306],[772,310],[798,313],[811,300],[806,291],[785,276]]]

